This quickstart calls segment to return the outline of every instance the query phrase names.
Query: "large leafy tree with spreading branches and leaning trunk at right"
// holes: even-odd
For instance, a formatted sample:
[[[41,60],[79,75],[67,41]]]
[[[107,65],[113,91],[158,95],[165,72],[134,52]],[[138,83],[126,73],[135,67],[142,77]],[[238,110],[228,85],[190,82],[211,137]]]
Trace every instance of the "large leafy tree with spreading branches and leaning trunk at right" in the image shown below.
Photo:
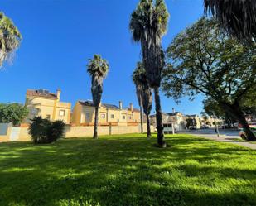
[[[255,48],[228,37],[214,20],[201,18],[168,47],[162,89],[176,99],[197,93],[214,99],[255,141],[240,102],[256,89]]]

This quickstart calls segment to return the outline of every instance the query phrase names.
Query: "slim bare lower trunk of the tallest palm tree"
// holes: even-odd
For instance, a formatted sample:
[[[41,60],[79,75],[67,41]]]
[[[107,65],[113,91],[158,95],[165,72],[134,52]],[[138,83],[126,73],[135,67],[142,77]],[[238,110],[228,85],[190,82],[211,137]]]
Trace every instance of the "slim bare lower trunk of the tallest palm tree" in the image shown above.
[[[163,127],[162,127],[162,109],[159,95],[159,88],[154,88],[155,93],[155,104],[156,104],[156,117],[157,117],[157,144],[160,147],[166,147],[166,142],[164,141],[163,136]]]

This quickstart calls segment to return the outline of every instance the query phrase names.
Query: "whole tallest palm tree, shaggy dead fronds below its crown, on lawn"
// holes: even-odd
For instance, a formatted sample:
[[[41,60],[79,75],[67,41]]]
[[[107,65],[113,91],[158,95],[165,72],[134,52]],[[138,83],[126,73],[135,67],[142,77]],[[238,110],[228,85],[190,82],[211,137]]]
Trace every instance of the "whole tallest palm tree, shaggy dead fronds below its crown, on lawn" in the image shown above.
[[[169,13],[164,0],[141,0],[132,13],[130,31],[133,41],[140,41],[143,65],[149,86],[154,89],[157,117],[157,143],[165,147],[159,87],[164,67],[162,36],[167,32]]]

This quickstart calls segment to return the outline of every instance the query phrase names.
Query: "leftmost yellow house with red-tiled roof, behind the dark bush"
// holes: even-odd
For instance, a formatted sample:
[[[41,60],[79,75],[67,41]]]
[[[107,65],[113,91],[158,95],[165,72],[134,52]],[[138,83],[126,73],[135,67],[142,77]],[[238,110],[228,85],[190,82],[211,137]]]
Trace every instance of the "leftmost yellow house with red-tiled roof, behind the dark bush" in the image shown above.
[[[36,116],[70,123],[71,103],[60,102],[60,89],[56,93],[46,89],[27,89],[25,105],[29,110],[25,123]]]

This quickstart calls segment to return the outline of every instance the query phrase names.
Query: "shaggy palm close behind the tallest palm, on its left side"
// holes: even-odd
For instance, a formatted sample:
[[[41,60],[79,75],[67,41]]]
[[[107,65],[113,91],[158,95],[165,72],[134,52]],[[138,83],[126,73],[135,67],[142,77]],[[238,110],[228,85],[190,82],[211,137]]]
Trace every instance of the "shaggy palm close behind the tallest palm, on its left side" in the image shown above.
[[[147,137],[151,137],[149,114],[152,109],[152,89],[147,82],[146,70],[143,67],[142,62],[138,62],[137,68],[133,72],[133,83],[136,88],[139,88],[140,98],[142,99],[143,111],[147,117]]]

